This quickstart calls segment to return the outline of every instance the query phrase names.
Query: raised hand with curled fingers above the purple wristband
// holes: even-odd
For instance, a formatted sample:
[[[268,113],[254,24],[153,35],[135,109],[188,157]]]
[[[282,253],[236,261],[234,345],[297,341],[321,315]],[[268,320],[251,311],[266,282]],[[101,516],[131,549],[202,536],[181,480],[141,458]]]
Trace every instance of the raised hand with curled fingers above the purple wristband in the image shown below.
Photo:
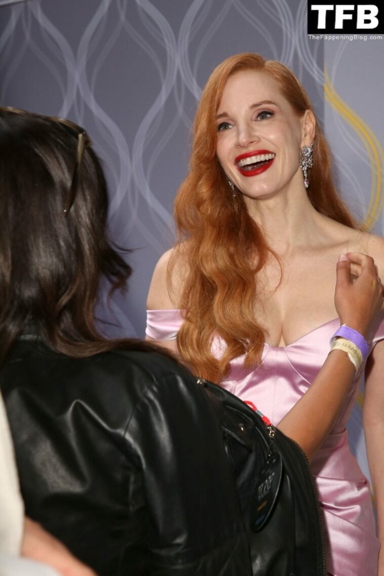
[[[355,280],[351,280],[351,274]],[[336,269],[334,304],[341,324],[367,338],[375,314],[383,304],[383,286],[373,258],[359,252],[340,256]]]

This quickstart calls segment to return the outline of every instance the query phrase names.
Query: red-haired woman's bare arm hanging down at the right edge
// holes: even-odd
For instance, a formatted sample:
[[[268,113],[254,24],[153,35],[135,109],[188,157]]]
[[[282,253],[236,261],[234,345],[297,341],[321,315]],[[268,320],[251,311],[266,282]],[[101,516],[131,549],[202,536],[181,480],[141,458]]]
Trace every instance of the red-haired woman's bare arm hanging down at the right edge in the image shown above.
[[[363,422],[382,543],[378,576],[384,576],[384,340],[376,344],[368,358]]]

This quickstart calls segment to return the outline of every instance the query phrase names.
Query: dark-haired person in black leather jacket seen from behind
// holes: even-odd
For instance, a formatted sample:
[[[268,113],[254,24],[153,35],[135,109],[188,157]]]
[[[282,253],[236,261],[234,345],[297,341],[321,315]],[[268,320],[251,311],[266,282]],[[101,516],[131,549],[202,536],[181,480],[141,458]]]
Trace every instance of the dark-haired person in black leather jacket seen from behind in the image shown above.
[[[0,388],[26,515],[99,576],[252,574],[203,386],[96,330],[100,275],[121,289],[131,268],[88,135],[2,108],[0,150]]]

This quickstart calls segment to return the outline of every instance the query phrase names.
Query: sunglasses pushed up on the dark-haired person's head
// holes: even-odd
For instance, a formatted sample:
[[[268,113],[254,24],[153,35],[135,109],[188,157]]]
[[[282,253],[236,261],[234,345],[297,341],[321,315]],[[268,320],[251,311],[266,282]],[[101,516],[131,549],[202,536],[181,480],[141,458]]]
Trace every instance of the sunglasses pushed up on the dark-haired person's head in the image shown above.
[[[66,202],[64,204],[64,210],[63,210],[65,217],[67,217],[71,207],[73,206],[75,198],[76,198],[76,192],[77,192],[77,188],[78,188],[79,175],[80,175],[80,169],[81,169],[81,164],[82,164],[82,160],[83,160],[84,149],[86,146],[90,146],[92,143],[90,141],[88,134],[86,133],[84,128],[82,128],[81,126],[78,126],[78,124],[71,122],[71,120],[66,120],[64,118],[60,118],[59,116],[44,116],[43,114],[37,114],[34,112],[26,112],[25,110],[22,110],[21,108],[13,108],[12,106],[0,107],[0,111],[1,112],[12,112],[14,114],[20,114],[20,115],[26,115],[26,116],[36,116],[37,118],[41,118],[43,120],[51,120],[51,122],[56,122],[56,123],[64,126],[67,129],[67,131],[69,131],[72,135],[74,135],[77,138],[76,164],[75,164],[75,168],[73,170],[71,185],[70,185],[70,188],[69,188],[69,191],[67,194],[67,198],[66,198]]]

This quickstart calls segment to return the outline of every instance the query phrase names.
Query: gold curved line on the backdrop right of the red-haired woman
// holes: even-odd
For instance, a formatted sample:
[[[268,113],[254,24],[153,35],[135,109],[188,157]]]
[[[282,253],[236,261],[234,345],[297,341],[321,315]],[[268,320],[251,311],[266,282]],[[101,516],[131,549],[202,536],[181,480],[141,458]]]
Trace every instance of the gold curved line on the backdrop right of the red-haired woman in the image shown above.
[[[379,143],[374,131],[355,111],[352,110],[344,100],[337,94],[332,82],[330,81],[326,67],[325,74],[325,99],[332,106],[341,118],[345,120],[357,132],[367,150],[368,158],[371,164],[371,195],[366,214],[362,221],[364,230],[372,230],[378,221],[383,206],[383,184],[382,184],[382,167],[384,167],[384,151]]]

